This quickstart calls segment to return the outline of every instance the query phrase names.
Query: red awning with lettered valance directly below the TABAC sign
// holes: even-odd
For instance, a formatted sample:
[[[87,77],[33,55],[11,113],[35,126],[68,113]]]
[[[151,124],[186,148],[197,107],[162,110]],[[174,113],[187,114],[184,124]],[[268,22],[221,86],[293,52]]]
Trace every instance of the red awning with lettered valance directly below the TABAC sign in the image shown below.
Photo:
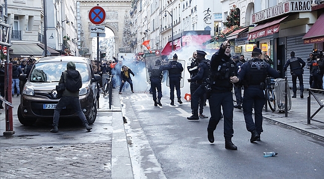
[[[249,31],[248,40],[253,40],[279,32],[280,22],[287,17],[288,16],[285,16],[271,22],[258,24],[251,31]]]

